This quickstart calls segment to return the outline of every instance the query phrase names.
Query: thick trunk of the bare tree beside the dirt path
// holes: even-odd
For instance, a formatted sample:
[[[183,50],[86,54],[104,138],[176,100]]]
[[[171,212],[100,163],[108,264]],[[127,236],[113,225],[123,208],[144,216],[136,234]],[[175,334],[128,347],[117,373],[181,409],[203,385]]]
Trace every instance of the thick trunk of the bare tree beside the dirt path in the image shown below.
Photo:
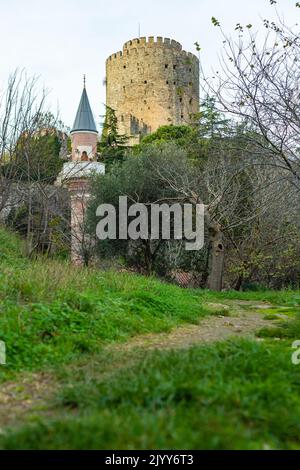
[[[224,242],[219,224],[210,224],[209,238],[211,250],[207,287],[211,290],[221,291],[223,288]]]

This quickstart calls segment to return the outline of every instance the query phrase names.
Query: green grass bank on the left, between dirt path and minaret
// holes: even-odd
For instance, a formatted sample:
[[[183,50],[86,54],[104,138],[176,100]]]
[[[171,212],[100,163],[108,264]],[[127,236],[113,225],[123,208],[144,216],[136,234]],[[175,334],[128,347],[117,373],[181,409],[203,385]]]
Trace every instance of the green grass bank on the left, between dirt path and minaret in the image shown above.
[[[29,261],[20,241],[3,230],[0,247],[0,339],[7,349],[2,380],[210,313],[196,292],[152,278]]]

